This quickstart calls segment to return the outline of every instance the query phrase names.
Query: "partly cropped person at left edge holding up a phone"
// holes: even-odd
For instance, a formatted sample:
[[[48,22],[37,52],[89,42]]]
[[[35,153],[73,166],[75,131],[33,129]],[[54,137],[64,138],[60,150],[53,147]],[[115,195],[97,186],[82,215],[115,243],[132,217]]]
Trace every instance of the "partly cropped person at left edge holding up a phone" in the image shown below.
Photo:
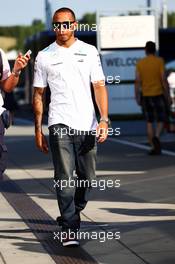
[[[0,49],[0,178],[2,179],[3,172],[7,166],[7,148],[4,143],[4,122],[2,115],[6,110],[3,105],[2,91],[9,93],[13,91],[15,86],[18,84],[21,70],[27,66],[30,56],[23,56],[19,54],[15,60],[12,72],[10,71],[10,65],[7,57],[2,49]]]

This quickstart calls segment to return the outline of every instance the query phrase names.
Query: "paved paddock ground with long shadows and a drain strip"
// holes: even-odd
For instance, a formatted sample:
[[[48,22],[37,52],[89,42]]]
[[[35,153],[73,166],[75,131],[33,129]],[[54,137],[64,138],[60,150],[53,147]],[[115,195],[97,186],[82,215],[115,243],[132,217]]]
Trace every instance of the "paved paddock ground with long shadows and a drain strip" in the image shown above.
[[[98,238],[81,239],[80,248],[70,250],[54,239],[59,211],[51,156],[36,149],[28,119],[17,118],[6,134],[0,263],[175,263],[174,134],[163,135],[161,156],[148,156],[143,121],[113,122],[121,135],[98,146],[97,179],[120,187],[92,189],[81,230]],[[107,238],[116,232],[120,239]]]

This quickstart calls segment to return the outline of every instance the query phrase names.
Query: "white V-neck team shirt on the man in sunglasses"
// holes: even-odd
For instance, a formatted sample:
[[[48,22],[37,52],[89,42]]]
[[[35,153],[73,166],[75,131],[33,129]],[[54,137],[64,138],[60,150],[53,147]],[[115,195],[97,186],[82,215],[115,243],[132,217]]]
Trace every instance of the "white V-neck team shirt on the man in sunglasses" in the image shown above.
[[[62,123],[73,129],[96,129],[91,82],[105,80],[97,49],[83,41],[69,47],[56,42],[40,51],[35,61],[34,87],[51,91],[48,126]]]

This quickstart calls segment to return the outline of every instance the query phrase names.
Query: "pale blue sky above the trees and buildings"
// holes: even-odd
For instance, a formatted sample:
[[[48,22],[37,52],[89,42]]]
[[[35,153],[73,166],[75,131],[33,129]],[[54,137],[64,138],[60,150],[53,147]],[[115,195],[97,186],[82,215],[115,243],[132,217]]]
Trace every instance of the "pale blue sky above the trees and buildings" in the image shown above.
[[[33,19],[45,20],[44,0],[0,0],[0,26],[30,25]],[[146,0],[50,0],[52,10],[62,6],[72,8],[77,18],[85,12],[106,9],[130,9],[144,7]],[[152,6],[160,9],[163,0],[152,0]],[[167,0],[168,10],[175,11],[175,0]]]

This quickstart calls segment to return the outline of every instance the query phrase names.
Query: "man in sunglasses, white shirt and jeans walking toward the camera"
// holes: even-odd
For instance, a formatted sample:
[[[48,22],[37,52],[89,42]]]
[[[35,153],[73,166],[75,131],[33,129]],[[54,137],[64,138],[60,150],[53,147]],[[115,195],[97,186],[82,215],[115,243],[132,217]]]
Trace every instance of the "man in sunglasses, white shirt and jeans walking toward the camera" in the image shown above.
[[[108,131],[107,89],[99,54],[94,46],[75,38],[76,26],[71,9],[55,11],[56,42],[38,53],[34,76],[35,138],[37,147],[44,153],[48,152],[42,132],[43,95],[47,84],[51,91],[49,141],[60,222],[66,234],[70,234],[69,231],[76,234],[79,230],[80,211],[87,204],[90,190],[87,183],[95,179],[95,134],[98,142],[104,142]],[[101,115],[99,124],[91,97],[91,83]],[[69,181],[75,179],[74,170],[77,182],[84,181],[85,186],[69,186]],[[61,181],[66,181],[67,186],[61,188]],[[76,236],[67,235],[62,242],[63,246],[79,245]]]

